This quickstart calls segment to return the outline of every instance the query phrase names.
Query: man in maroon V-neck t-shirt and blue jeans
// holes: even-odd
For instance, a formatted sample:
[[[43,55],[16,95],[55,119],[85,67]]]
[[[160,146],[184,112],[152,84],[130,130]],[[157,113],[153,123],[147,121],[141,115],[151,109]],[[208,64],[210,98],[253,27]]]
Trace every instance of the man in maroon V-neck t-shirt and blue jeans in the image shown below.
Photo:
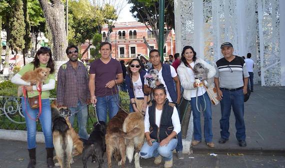
[[[98,121],[107,121],[113,118],[118,110],[118,88],[117,84],[123,82],[120,63],[111,58],[111,44],[102,42],[99,48],[101,58],[93,61],[90,66],[90,101],[96,104]]]

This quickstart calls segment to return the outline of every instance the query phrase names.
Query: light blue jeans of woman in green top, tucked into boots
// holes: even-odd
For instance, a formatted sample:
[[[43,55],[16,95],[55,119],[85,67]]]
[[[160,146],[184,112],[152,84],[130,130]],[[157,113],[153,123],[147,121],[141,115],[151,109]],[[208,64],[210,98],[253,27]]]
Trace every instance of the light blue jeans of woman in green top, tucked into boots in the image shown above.
[[[21,103],[27,128],[27,149],[33,149],[36,147],[36,122],[34,120],[36,119],[36,114],[39,113],[39,109],[31,109],[29,107],[28,100],[24,102],[23,97],[21,98]],[[31,119],[28,117],[28,115]],[[39,116],[39,121],[44,135],[45,148],[53,148],[49,99],[41,99],[41,115]]]

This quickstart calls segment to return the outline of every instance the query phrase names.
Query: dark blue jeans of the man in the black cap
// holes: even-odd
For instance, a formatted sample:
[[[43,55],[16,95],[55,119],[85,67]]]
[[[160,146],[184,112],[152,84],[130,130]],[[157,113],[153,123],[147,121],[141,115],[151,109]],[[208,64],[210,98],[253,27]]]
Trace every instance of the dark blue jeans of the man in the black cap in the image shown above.
[[[221,119],[219,120],[220,124],[220,137],[228,140],[229,137],[229,115],[230,109],[232,107],[232,111],[235,117],[235,128],[236,128],[236,139],[245,140],[245,125],[243,120],[244,114],[244,105],[243,105],[243,91],[242,89],[237,91],[226,91],[221,89],[222,91],[222,100],[220,101],[220,109],[221,109]]]

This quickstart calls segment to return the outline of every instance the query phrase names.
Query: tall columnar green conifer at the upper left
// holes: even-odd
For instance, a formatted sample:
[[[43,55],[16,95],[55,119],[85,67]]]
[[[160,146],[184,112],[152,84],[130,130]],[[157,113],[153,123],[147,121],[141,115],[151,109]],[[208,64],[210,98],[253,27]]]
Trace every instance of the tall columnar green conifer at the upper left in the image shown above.
[[[17,52],[24,48],[23,36],[25,34],[25,23],[23,16],[23,2],[21,0],[15,0],[11,5],[11,11],[9,21],[9,27],[11,28],[9,46]]]

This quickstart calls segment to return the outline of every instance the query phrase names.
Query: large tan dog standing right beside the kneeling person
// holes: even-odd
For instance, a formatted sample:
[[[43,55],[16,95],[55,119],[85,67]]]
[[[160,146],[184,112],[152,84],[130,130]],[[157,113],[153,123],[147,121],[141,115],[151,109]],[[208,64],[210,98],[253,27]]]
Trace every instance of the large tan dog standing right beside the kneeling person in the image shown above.
[[[128,114],[123,122],[122,130],[126,133],[125,146],[126,146],[126,157],[131,163],[134,154],[134,168],[140,168],[138,152],[144,142],[144,117],[139,112]]]

